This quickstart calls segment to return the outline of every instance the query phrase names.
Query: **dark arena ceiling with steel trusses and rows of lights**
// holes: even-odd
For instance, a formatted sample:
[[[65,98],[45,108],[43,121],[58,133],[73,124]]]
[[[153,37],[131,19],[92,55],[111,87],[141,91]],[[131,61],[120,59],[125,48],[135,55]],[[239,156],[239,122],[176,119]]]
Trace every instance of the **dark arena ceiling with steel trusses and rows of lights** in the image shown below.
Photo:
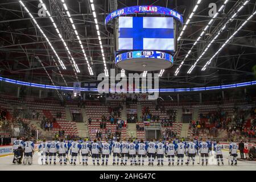
[[[250,0],[229,22],[230,17],[246,3],[246,0],[230,0],[226,4],[225,1],[202,0],[199,4],[196,13],[193,14],[177,43],[174,66],[166,69],[160,78],[162,88],[210,86],[255,80],[253,67],[256,65],[256,15],[247,22],[246,19],[255,12],[256,1]],[[115,68],[115,49],[112,30],[109,28],[106,31],[104,26],[106,15],[115,9],[127,6],[163,6],[183,14],[185,25],[197,2],[197,0],[94,0],[108,70]],[[74,81],[96,82],[97,75],[104,73],[104,62],[90,0],[65,0],[73,25],[61,0],[43,1],[53,18],[53,22],[56,23],[63,41],[58,36],[55,24],[49,16],[39,16],[42,14],[39,0],[24,0],[22,3],[32,16],[27,13],[18,0],[0,2],[0,75],[16,80],[42,84],[52,84],[53,82],[55,85],[64,86],[72,86]],[[222,5],[225,6],[204,35],[201,36],[201,39],[197,41],[201,32],[212,19],[209,16],[209,11],[212,9],[209,7],[210,3],[216,3],[217,10]],[[39,30],[31,17],[34,17],[42,31]],[[226,24],[226,22],[228,23]],[[240,28],[244,22],[246,22],[245,26]],[[225,24],[224,30],[220,32],[212,46],[200,57]],[[177,38],[184,25],[178,24]],[[79,43],[72,26],[75,26],[81,43]],[[237,34],[230,38],[237,30],[239,30]],[[42,32],[44,32],[44,36]],[[220,52],[217,52],[229,38],[230,41]],[[193,46],[196,41],[197,44]],[[64,42],[70,51],[69,53]],[[86,54],[93,75],[89,72],[82,49]],[[187,56],[189,51],[189,56]],[[213,55],[215,56],[213,57]],[[57,56],[63,64],[60,63]],[[211,59],[212,57],[213,59]],[[209,60],[210,64],[207,65],[205,71],[201,71]],[[193,65],[195,68],[191,73],[188,73]],[[178,73],[177,69],[179,69]]]

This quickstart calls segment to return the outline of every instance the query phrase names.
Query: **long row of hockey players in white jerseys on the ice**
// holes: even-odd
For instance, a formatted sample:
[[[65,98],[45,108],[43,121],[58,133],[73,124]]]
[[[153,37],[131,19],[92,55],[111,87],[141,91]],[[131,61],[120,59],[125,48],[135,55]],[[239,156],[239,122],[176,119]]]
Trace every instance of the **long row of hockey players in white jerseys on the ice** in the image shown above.
[[[237,150],[238,146],[236,143],[232,142],[229,145],[229,154],[231,165],[237,165]],[[77,157],[80,162],[80,155],[82,158],[82,164],[88,165],[89,157],[92,157],[92,162],[94,165],[108,165],[109,156],[113,153],[113,165],[118,165],[119,162],[121,165],[126,166],[128,160],[130,160],[130,165],[144,166],[145,158],[148,158],[148,166],[153,166],[155,158],[157,158],[157,166],[163,166],[164,156],[168,158],[168,166],[174,166],[175,156],[177,156],[177,166],[179,164],[183,165],[184,154],[188,156],[187,162],[189,164],[192,161],[192,165],[195,164],[195,157],[199,155],[199,163],[204,166],[208,165],[209,153],[212,154],[212,146],[214,148],[214,154],[216,154],[218,165],[220,163],[224,165],[222,149],[224,148],[222,144],[218,141],[213,142],[210,140],[202,139],[200,142],[197,139],[191,139],[190,142],[180,142],[178,139],[163,141],[151,141],[144,142],[141,140],[126,140],[123,139],[122,142],[118,138],[116,141],[106,140],[101,142],[100,139],[93,141],[82,141],[69,140],[65,142],[63,139],[60,141],[52,140],[51,142],[43,142],[39,145],[38,150],[42,154],[42,164],[52,163],[56,164],[56,156],[59,157],[60,164],[69,164],[76,165]],[[14,150],[14,160],[13,163],[22,163],[23,152],[24,160],[23,164],[32,164],[32,156],[34,154],[34,143],[28,139],[26,142],[17,138],[14,141],[13,145]],[[200,154],[199,154],[200,153]],[[71,160],[68,158],[68,154],[71,155]],[[204,163],[205,162],[205,163]]]

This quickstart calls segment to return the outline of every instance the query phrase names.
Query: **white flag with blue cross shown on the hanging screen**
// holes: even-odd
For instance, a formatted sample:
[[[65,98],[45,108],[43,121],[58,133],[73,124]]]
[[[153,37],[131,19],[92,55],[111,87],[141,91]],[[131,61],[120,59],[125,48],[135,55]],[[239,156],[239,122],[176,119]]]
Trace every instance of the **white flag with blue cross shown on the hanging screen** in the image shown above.
[[[120,16],[118,49],[174,51],[174,19]]]

